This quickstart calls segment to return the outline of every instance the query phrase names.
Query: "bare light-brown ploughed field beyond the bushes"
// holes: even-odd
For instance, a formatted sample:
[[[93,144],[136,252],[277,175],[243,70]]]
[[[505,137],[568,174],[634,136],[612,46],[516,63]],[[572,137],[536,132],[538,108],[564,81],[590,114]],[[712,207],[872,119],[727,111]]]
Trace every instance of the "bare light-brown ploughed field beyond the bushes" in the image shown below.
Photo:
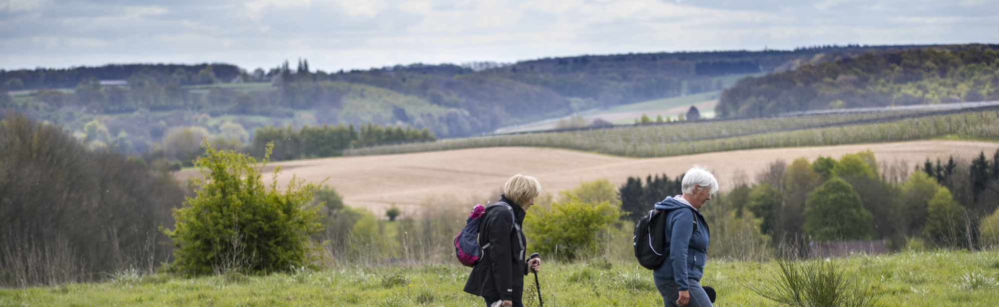
[[[722,153],[629,158],[538,148],[491,148],[451,152],[404,153],[389,155],[347,156],[285,161],[279,182],[298,175],[310,182],[329,177],[352,206],[363,206],[382,214],[392,203],[405,209],[431,196],[454,195],[460,199],[486,196],[500,190],[506,178],[518,172],[536,176],[544,191],[557,193],[579,182],[606,178],[619,185],[628,176],[645,177],[663,173],[676,176],[693,164],[711,169],[722,189],[730,188],[733,178],[752,182],[755,174],[775,159],[790,161],[799,156],[814,159],[819,155],[838,157],[843,153],[871,150],[882,164],[907,161],[907,169],[927,157],[950,155],[972,158],[984,151],[991,157],[999,143],[966,141],[917,141],[836,147],[767,149]],[[194,170],[176,173],[187,178]],[[744,175],[739,175],[739,173]],[[270,179],[265,175],[265,179]]]

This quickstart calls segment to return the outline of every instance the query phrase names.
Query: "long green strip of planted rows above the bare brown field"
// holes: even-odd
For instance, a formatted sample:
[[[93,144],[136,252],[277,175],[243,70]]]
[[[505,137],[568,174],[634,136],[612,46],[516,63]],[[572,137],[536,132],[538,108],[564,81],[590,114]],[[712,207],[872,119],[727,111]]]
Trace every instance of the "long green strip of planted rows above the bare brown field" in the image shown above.
[[[999,138],[999,102],[863,108],[764,119],[694,121],[535,132],[360,148],[345,155],[489,147],[544,147],[651,157],[722,151],[926,140]]]

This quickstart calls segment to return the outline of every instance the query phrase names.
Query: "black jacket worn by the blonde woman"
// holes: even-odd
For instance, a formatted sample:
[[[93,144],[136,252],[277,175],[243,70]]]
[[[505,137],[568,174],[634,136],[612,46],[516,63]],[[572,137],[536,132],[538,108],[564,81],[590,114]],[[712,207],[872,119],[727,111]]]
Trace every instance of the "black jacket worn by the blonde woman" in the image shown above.
[[[482,260],[472,269],[469,281],[465,283],[465,292],[487,298],[520,301],[527,264],[521,258],[521,253],[526,251],[520,250],[517,236],[520,236],[519,239],[524,244],[527,241],[522,231],[518,234],[512,223],[522,225],[524,211],[506,197],[500,198],[500,201],[513,208],[515,219],[510,220],[509,211],[503,207],[486,212],[483,223],[479,226],[479,243],[491,245],[486,248]]]

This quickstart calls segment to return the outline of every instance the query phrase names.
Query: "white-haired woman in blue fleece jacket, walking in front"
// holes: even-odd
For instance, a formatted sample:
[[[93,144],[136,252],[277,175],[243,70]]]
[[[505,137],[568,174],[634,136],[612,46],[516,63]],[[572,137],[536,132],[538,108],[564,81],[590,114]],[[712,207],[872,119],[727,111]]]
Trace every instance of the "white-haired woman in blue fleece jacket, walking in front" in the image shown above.
[[[704,168],[694,165],[683,175],[682,195],[668,196],[655,204],[668,210],[666,246],[669,257],[652,271],[655,288],[662,295],[662,305],[710,307],[711,301],[700,286],[707,260],[710,231],[700,208],[718,191],[718,180]]]

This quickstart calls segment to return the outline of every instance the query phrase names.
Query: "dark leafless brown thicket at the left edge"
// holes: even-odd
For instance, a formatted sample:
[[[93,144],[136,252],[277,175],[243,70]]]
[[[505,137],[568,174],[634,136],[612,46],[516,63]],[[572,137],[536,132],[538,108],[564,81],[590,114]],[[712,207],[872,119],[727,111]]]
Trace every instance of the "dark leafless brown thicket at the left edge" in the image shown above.
[[[102,280],[153,272],[171,247],[185,192],[167,172],[91,150],[59,127],[0,119],[0,286]]]

